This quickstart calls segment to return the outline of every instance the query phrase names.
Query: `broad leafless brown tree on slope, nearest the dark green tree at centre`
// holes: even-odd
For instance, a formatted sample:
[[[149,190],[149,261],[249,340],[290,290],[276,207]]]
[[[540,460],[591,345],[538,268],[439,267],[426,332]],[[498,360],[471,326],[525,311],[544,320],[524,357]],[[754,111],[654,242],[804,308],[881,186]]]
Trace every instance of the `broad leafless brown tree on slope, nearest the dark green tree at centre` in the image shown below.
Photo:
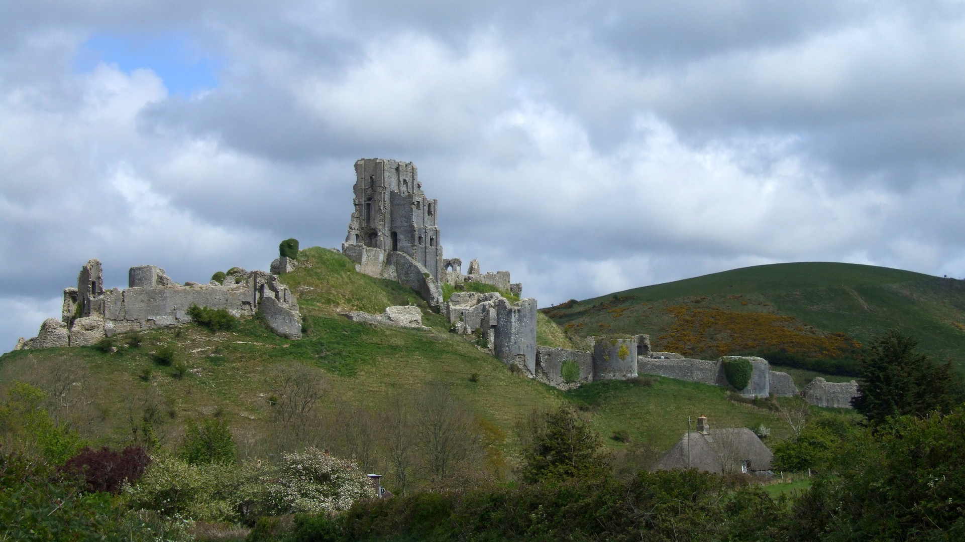
[[[455,402],[449,389],[431,386],[419,394],[416,434],[428,474],[436,481],[452,478],[478,448],[473,417]]]

